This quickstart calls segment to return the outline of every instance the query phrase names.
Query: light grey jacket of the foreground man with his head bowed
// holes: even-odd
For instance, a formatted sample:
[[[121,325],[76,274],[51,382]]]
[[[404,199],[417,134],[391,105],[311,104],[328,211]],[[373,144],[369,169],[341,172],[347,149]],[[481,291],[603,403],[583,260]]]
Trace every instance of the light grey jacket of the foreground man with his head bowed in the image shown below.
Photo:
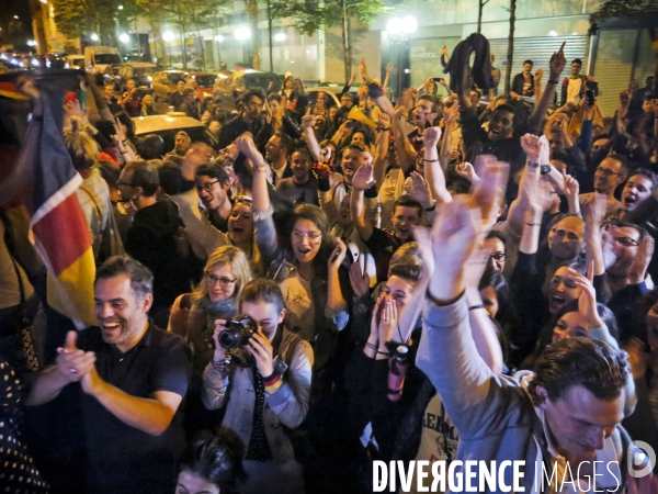
[[[487,465],[490,461],[496,461],[496,465],[506,460],[525,461],[521,468],[522,486],[526,493],[534,492],[537,459],[542,459],[548,474],[552,467],[544,428],[526,391],[518,380],[495,374],[478,355],[464,295],[446,306],[427,301],[423,321],[416,366],[436,388],[460,434],[456,460],[481,460]],[[628,435],[621,425],[615,434],[625,457]],[[620,465],[625,464],[624,457]],[[541,475],[541,463],[536,468]],[[464,467],[456,469],[465,475],[464,470]],[[479,467],[473,471],[478,472]],[[512,469],[506,469],[507,485],[513,485],[512,476]],[[617,492],[622,492],[624,481],[621,479]],[[498,482],[496,486],[497,492],[502,492]]]

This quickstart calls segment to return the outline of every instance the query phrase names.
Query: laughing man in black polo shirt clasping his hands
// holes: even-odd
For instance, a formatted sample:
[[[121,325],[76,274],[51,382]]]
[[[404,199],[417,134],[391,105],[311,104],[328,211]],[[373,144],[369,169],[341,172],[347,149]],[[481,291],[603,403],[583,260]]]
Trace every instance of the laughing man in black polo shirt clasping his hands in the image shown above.
[[[94,291],[99,326],[69,332],[27,398],[68,414],[69,444],[50,459],[61,475],[54,489],[170,494],[185,446],[179,406],[191,373],[188,347],[148,319],[152,274],[138,261],[107,259]]]

